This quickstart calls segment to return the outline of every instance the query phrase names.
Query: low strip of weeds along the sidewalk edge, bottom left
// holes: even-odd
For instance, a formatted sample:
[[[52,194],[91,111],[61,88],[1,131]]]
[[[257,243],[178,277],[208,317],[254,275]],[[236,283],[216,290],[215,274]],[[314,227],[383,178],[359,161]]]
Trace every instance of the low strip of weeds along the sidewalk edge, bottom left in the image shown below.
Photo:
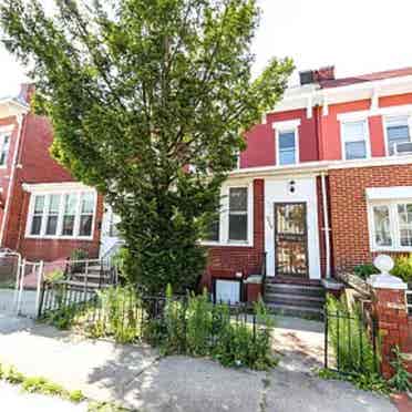
[[[29,393],[60,396],[73,403],[80,403],[85,399],[83,393],[79,390],[70,392],[62,385],[43,377],[25,377],[12,365],[0,363],[0,379],[12,384],[21,384],[22,390]]]

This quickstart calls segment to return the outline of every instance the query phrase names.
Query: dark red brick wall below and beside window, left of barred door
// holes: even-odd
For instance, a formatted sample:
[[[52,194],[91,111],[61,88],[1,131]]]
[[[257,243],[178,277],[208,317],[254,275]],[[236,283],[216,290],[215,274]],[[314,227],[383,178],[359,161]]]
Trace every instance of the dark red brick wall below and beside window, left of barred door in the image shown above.
[[[212,280],[217,278],[235,278],[237,271],[246,275],[258,274],[265,250],[265,182],[254,181],[254,246],[209,247],[208,265],[203,284],[212,287]]]

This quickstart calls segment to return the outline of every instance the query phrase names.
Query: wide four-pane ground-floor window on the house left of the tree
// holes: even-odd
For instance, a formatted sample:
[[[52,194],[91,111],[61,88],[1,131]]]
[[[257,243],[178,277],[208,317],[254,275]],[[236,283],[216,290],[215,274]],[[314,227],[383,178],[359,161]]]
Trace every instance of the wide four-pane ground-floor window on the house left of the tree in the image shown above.
[[[32,196],[29,235],[90,238],[93,234],[95,193],[73,192]]]

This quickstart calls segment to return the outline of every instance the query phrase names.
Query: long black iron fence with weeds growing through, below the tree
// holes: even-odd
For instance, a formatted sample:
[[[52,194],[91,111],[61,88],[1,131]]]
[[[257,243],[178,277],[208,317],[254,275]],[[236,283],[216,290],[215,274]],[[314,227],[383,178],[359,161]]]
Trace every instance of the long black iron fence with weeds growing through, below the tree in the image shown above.
[[[199,308],[202,305],[207,306],[208,320]],[[39,318],[50,319],[63,328],[79,328],[92,337],[113,337],[120,342],[151,340],[175,322],[183,347],[186,330],[194,322],[205,322],[213,344],[217,344],[225,325],[246,328],[254,342],[270,333],[268,317],[259,316],[250,303],[219,303],[206,298],[190,303],[188,296],[146,296],[133,288],[78,288],[70,282],[43,285]]]

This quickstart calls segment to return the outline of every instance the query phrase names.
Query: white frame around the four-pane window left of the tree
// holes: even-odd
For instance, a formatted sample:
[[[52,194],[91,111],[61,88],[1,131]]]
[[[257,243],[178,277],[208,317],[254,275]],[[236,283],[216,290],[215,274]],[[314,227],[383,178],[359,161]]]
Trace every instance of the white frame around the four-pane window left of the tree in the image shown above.
[[[94,197],[94,206],[93,206],[93,216],[92,216],[92,230],[90,236],[80,236],[80,217],[81,217],[81,195],[92,193]],[[63,216],[64,216],[64,196],[69,194],[75,194],[78,197],[78,204],[76,204],[76,210],[74,216],[74,229],[73,235],[70,236],[63,236],[59,235],[62,233],[63,229]],[[59,215],[58,215],[58,229],[56,235],[47,235],[45,228],[47,228],[47,216],[48,216],[48,208],[50,205],[50,198],[51,195],[60,195],[60,206],[59,206]],[[41,230],[40,235],[32,235],[32,223],[33,223],[33,214],[34,214],[34,203],[37,196],[45,196],[44,199],[44,206],[43,206],[43,218],[41,223]],[[27,238],[33,238],[33,239],[58,239],[58,240],[64,240],[64,239],[79,239],[79,240],[93,240],[94,237],[94,230],[95,230],[95,220],[96,220],[96,210],[97,210],[97,194],[93,189],[76,189],[76,190],[51,190],[51,192],[33,192],[30,196],[30,205],[29,205],[29,214],[27,218],[25,224],[25,237]]]

